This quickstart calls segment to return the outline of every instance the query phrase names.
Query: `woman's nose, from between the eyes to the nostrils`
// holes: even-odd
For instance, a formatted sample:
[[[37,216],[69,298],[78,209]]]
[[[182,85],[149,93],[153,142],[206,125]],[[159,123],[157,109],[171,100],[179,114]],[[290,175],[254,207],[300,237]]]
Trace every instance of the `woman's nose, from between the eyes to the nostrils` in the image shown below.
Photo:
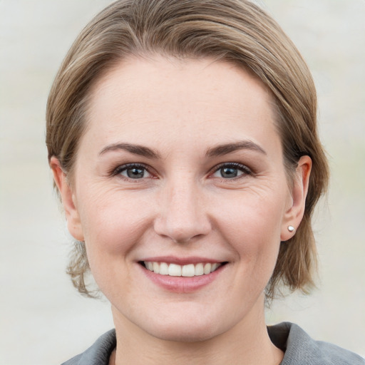
[[[154,229],[176,243],[190,242],[207,235],[211,222],[202,189],[196,183],[177,181],[166,186],[160,196],[160,212]]]

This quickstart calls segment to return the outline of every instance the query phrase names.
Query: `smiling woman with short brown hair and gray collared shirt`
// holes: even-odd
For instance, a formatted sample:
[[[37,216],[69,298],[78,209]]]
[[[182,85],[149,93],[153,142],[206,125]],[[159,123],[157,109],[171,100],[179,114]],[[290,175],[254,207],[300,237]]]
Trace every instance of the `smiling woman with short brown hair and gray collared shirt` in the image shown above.
[[[316,93],[279,26],[245,0],[122,0],[68,52],[47,107],[48,159],[115,331],[66,364],[364,364],[294,324],[311,215],[327,187]]]

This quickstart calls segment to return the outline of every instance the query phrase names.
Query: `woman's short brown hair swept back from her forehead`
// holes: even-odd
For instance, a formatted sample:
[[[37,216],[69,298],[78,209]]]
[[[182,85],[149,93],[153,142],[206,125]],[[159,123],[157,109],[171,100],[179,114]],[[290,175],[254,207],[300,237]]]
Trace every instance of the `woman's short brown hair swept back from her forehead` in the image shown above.
[[[271,91],[288,180],[302,155],[309,155],[313,165],[303,220],[296,235],[282,242],[266,294],[272,298],[278,284],[307,292],[317,263],[311,216],[329,177],[317,133],[316,91],[292,41],[251,1],[120,0],[106,7],[73,43],[51,88],[48,159],[55,156],[63,170],[72,173],[91,86],[128,56],[153,53],[229,61],[255,73]],[[87,295],[88,270],[85,244],[77,243],[68,273],[78,291]]]

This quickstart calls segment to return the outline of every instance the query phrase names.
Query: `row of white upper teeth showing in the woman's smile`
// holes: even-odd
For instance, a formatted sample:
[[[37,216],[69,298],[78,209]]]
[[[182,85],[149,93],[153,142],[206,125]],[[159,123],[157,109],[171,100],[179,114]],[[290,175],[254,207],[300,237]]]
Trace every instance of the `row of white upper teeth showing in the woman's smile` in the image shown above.
[[[207,275],[214,272],[222,264],[216,262],[207,264],[168,264],[167,262],[144,262],[145,267],[155,274],[169,275],[170,277],[197,277],[200,275]]]

